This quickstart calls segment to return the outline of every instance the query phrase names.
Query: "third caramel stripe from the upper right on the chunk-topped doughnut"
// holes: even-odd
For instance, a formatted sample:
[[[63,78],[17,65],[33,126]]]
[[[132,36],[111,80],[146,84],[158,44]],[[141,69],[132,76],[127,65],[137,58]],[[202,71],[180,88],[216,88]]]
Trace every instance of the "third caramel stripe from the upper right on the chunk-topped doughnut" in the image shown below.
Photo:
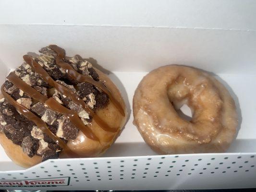
[[[65,108],[52,97],[48,99],[46,96],[40,94],[36,89],[29,86],[17,75],[15,75],[14,72],[11,72],[7,79],[9,79],[12,84],[24,91],[27,95],[31,96],[37,101],[40,101],[41,103],[46,104],[52,110],[65,115],[81,132],[85,134],[86,137],[98,141],[98,137],[90,130],[89,127],[85,126],[75,111]]]

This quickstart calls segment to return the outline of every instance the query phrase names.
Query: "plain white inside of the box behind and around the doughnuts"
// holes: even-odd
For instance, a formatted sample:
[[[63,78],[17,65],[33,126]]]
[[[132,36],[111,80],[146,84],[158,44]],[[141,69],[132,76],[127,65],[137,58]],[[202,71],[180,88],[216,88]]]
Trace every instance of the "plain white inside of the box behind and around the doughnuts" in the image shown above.
[[[68,2],[63,1],[64,6],[68,6]],[[67,56],[80,54],[88,58],[94,66],[109,73],[121,90],[130,114],[125,129],[104,156],[143,156],[156,154],[145,144],[132,123],[132,98],[137,84],[147,72],[159,66],[181,64],[197,67],[216,75],[236,102],[241,125],[228,152],[256,152],[256,25],[255,13],[250,11],[256,5],[245,3],[249,11],[244,12],[239,8],[239,2],[227,1],[230,3],[227,6],[237,9],[234,12],[232,8],[218,9],[218,3],[207,6],[200,0],[191,6],[183,6],[178,1],[160,2],[158,6],[154,0],[142,1],[138,5],[135,1],[128,5],[114,2],[115,6],[105,3],[105,9],[99,6],[100,2],[82,6],[85,11],[73,12],[72,16],[71,13],[55,12],[52,8],[56,8],[56,2],[49,7],[49,1],[46,1],[41,6],[54,12],[55,17],[43,18],[36,14],[37,9],[32,10],[35,17],[29,16],[28,8],[17,12],[19,6],[24,7],[21,2],[11,7],[7,1],[1,1],[0,14],[5,17],[0,17],[0,82],[23,62],[24,54],[37,52],[49,44],[64,48]],[[81,10],[81,3],[75,0],[73,9]],[[8,7],[12,12],[1,7]],[[114,7],[118,11],[111,12]],[[184,11],[180,20],[177,19],[179,9]],[[105,10],[111,14],[106,14],[102,20],[102,17],[92,16],[89,10]],[[18,16],[12,18],[13,12]],[[129,17],[132,12],[134,17]],[[194,12],[198,13],[195,20],[188,17]],[[199,19],[206,12],[208,18]],[[184,113],[189,111],[184,109]],[[13,165],[1,147],[0,162],[0,170],[7,170],[6,165],[13,166],[12,170],[21,169]]]

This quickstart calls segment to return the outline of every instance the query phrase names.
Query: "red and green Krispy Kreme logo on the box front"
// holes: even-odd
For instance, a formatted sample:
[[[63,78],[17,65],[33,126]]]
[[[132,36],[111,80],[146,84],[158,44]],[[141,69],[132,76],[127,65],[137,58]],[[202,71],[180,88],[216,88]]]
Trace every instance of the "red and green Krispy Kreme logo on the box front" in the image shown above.
[[[69,185],[70,177],[34,180],[0,180],[0,187],[57,187]]]

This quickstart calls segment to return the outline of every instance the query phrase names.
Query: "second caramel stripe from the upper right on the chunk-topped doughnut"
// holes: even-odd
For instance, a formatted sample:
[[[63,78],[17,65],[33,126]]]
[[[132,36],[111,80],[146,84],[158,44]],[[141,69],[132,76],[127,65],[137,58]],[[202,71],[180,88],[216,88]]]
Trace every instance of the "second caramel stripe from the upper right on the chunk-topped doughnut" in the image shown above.
[[[23,59],[26,61],[27,64],[31,66],[31,68],[37,72],[49,85],[55,87],[59,92],[61,92],[65,96],[70,96],[74,103],[76,103],[79,106],[82,106],[82,108],[85,109],[85,111],[94,118],[96,123],[107,132],[116,132],[118,128],[110,127],[106,122],[101,120],[97,114],[95,114],[90,108],[88,108],[85,105],[85,102],[79,98],[77,94],[75,94],[73,91],[68,89],[67,87],[63,86],[62,84],[58,84],[55,82],[51,76],[35,61],[30,55],[24,55]]]

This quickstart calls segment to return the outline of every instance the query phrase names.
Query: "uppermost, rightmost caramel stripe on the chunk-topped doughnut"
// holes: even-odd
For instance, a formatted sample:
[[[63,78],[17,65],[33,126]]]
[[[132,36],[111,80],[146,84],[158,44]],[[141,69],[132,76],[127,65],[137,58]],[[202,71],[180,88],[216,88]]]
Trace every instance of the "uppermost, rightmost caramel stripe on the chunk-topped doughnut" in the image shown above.
[[[58,47],[57,45],[50,45],[49,47],[57,53],[57,58],[56,58],[57,65],[63,68],[74,80],[80,83],[87,82],[100,88],[110,97],[110,100],[112,101],[114,106],[119,110],[122,116],[125,116],[125,113],[121,104],[112,96],[110,90],[107,87],[105,87],[104,84],[94,81],[94,79],[89,76],[80,74],[79,72],[75,71],[72,66],[70,66],[68,63],[63,61],[63,59],[65,59],[65,53],[62,48]]]

